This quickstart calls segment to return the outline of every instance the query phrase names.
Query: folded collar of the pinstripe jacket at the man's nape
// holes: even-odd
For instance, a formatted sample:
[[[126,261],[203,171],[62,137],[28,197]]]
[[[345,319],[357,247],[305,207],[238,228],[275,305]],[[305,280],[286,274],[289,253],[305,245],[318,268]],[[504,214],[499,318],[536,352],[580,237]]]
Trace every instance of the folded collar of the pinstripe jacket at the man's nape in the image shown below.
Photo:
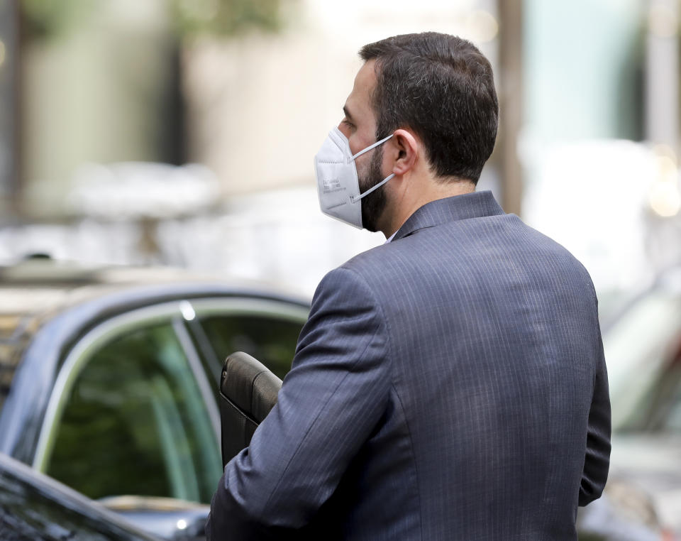
[[[393,237],[393,241],[409,236],[414,231],[434,227],[447,222],[504,214],[492,192],[471,192],[445,197],[423,205],[411,214]]]

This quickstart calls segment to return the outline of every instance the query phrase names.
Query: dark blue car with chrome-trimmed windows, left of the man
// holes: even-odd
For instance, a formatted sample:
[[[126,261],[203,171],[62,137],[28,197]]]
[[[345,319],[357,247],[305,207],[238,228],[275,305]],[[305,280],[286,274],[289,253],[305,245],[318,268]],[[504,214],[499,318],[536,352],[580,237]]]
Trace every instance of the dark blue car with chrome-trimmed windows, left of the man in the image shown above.
[[[222,361],[245,351],[283,378],[308,310],[172,270],[2,268],[0,452],[150,532],[192,537],[221,476]]]

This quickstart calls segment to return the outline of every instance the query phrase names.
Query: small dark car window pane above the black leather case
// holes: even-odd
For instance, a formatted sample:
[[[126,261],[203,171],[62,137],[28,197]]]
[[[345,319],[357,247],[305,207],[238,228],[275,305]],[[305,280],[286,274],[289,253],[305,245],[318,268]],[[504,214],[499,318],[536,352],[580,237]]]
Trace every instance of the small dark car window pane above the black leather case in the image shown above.
[[[291,368],[302,322],[265,315],[199,316],[220,361],[244,351],[284,379]]]

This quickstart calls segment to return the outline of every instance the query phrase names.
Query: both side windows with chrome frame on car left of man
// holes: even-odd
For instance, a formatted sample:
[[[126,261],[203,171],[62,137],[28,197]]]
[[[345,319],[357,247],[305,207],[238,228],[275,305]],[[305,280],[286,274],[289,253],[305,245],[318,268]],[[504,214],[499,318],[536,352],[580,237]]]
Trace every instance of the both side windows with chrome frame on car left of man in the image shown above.
[[[60,368],[33,466],[94,499],[209,503],[222,470],[223,359],[245,351],[283,377],[307,311],[285,300],[189,298],[98,324]]]

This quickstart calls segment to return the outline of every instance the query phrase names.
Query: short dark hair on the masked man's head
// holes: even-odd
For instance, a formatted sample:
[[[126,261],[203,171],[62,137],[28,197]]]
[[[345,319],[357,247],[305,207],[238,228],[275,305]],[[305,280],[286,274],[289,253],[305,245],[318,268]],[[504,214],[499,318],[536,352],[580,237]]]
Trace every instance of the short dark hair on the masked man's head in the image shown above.
[[[477,182],[494,149],[499,104],[492,66],[470,41],[436,32],[365,45],[376,60],[376,138],[411,129],[438,177]]]

